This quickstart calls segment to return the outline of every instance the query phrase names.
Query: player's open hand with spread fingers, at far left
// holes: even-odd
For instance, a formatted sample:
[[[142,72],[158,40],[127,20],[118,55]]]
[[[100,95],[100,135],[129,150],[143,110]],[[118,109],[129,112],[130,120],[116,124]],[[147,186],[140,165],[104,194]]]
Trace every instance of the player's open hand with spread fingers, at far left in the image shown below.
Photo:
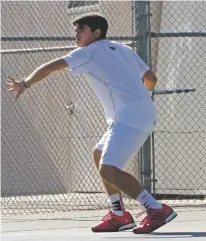
[[[9,92],[15,92],[16,93],[16,100],[19,98],[21,94],[25,91],[25,87],[22,81],[15,80],[11,77],[8,76],[6,79],[6,86],[8,88]]]

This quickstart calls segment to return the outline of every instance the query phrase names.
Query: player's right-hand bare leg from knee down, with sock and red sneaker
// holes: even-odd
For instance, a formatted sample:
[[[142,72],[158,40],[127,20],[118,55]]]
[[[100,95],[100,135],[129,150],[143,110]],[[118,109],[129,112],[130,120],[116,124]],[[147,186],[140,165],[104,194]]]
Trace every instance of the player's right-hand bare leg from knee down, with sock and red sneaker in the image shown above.
[[[99,172],[102,178],[113,183],[122,192],[146,207],[148,215],[142,220],[139,227],[133,229],[135,234],[150,233],[177,216],[172,208],[158,203],[129,173],[112,165],[100,165]]]

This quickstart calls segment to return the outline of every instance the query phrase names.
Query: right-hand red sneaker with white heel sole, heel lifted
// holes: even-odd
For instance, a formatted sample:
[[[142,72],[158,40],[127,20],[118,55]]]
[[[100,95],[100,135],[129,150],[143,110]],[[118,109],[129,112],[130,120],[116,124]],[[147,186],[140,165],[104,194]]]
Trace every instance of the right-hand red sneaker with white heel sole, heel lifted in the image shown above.
[[[146,212],[147,216],[142,220],[139,227],[133,229],[133,233],[151,233],[177,216],[177,213],[166,204],[162,204],[161,209],[147,209]],[[144,212],[141,212],[137,217],[143,213]]]

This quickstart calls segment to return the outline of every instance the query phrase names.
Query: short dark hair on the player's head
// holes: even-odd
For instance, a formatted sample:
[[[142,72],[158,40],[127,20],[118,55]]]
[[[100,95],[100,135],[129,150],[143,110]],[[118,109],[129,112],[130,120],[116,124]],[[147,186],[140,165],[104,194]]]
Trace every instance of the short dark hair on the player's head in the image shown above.
[[[96,29],[100,29],[101,35],[99,36],[99,39],[106,38],[108,22],[106,18],[99,14],[93,13],[81,16],[80,18],[74,20],[73,24],[75,26],[79,26],[80,28],[84,25],[87,25],[91,28],[92,32],[94,32]]]

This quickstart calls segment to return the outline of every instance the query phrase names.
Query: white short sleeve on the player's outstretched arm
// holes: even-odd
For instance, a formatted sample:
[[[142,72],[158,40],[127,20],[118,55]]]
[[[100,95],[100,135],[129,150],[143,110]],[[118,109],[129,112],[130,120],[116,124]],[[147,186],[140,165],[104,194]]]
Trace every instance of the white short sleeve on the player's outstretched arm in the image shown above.
[[[62,58],[69,65],[69,71],[82,74],[89,72],[89,63],[93,56],[94,48],[82,47],[71,51]]]

